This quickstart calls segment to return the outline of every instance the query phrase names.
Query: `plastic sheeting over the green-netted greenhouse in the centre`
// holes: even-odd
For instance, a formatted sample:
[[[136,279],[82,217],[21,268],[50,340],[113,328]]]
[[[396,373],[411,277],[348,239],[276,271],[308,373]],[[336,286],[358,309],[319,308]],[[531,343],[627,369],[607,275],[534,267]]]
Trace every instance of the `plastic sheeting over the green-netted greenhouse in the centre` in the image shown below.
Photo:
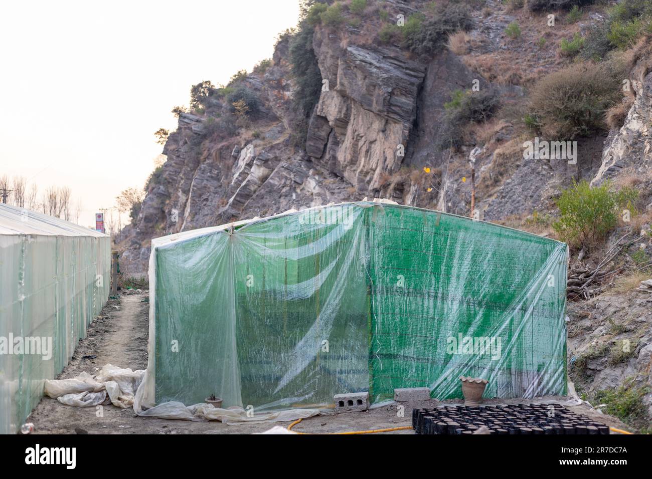
[[[136,402],[461,398],[460,375],[488,379],[486,397],[564,394],[566,265],[555,240],[378,203],[156,239]]]

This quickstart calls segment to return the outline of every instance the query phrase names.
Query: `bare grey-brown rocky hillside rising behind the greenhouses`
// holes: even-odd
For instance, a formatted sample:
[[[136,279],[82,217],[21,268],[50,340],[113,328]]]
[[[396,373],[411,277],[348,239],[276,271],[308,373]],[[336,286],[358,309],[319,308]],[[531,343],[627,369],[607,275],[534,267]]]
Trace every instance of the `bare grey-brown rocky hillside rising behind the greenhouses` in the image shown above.
[[[524,102],[534,81],[572,63],[559,55],[561,41],[584,34],[602,16],[587,7],[579,22],[560,20],[551,29],[545,11],[513,10],[497,0],[486,0],[482,8],[477,1],[467,3],[473,5],[473,27],[464,44],[442,46],[431,55],[414,53],[398,40],[381,41],[378,35],[387,18],[408,18],[426,10],[426,1],[370,1],[360,18],[345,8],[345,22],[337,27],[315,25],[312,50],[322,87],[305,135],[297,131],[301,113],[293,101],[297,84],[287,35],[276,45],[269,67],[229,85],[256,96],[256,111],[246,120],[228,123],[233,111],[228,96],[220,94],[209,96],[203,108],[181,113],[163,150],[167,161],[148,182],[137,220],[124,231],[121,268],[144,275],[153,237],[331,201],[387,197],[468,216],[469,157],[475,159],[476,208],[485,220],[524,227],[523,222],[509,223],[510,218],[552,212],[561,188],[582,178],[599,183],[638,175],[645,178],[640,189],[649,203],[649,51],[640,48],[630,59],[634,98],[622,127],[576,138],[576,164],[527,159],[522,142],[528,138],[517,125],[522,117],[511,111]],[[563,12],[556,13],[563,18]],[[522,27],[518,40],[505,35],[512,22]],[[450,134],[443,128],[445,104],[455,91],[473,85],[500,99],[500,113],[465,128],[457,147],[442,147]],[[622,384],[630,373],[652,385],[649,297],[630,299],[639,318],[631,326],[640,329],[636,356],[626,366],[606,365],[603,375],[585,374],[599,370],[599,364],[587,363],[580,383],[589,393]],[[617,298],[594,301],[597,317],[587,325],[591,331],[606,327],[615,306],[600,305],[617,304]],[[573,321],[585,322],[582,308],[571,306],[569,328]],[[602,332],[596,329],[593,336]],[[595,340],[585,333],[572,343],[579,355]],[[645,396],[652,414],[651,398]]]

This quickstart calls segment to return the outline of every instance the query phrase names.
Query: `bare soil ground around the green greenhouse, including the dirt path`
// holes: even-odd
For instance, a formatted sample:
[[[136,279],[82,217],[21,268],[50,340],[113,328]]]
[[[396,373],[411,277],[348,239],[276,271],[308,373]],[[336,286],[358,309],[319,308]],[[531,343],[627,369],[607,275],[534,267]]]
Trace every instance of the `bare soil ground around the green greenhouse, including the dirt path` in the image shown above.
[[[72,360],[57,379],[74,377],[82,371],[95,374],[104,364],[113,364],[132,370],[147,368],[147,335],[149,325],[149,296],[147,291],[127,291],[119,299],[110,299],[102,312],[88,328],[87,338],[80,341]],[[87,358],[85,358],[85,356]],[[88,358],[96,356],[95,358]],[[486,404],[560,401],[568,398],[546,397],[531,401],[522,399],[490,399]],[[336,433],[411,426],[413,407],[434,407],[438,403],[458,401],[419,401],[400,403],[404,416],[398,414],[398,405],[360,413],[327,413],[304,419],[293,430],[307,433]],[[72,407],[56,399],[42,398],[29,416],[35,433],[41,434],[248,434],[266,431],[273,426],[289,426],[289,422],[241,424],[226,426],[218,421],[189,422],[136,416],[133,409],[104,406],[103,416],[96,416],[95,407]],[[627,429],[619,420],[600,414],[586,405],[569,407],[576,413],[589,416],[608,426]],[[627,429],[629,430],[629,429]],[[391,434],[413,434],[412,429],[392,431]]]

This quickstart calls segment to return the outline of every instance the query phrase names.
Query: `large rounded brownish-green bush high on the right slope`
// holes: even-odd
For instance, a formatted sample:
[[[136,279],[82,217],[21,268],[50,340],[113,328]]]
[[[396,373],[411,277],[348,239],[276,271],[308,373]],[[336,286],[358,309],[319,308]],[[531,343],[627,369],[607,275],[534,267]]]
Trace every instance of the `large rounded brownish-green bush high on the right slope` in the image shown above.
[[[542,134],[557,140],[606,130],[606,111],[621,102],[623,61],[585,62],[544,76],[530,94]]]

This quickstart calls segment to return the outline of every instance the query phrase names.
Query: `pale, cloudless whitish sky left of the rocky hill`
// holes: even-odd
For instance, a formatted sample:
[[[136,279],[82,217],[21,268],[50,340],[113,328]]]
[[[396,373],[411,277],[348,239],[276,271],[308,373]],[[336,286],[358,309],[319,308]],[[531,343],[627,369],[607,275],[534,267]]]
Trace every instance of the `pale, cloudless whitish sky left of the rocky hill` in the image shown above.
[[[251,71],[298,16],[298,0],[3,2],[0,176],[70,186],[94,225],[143,186],[190,86]]]

